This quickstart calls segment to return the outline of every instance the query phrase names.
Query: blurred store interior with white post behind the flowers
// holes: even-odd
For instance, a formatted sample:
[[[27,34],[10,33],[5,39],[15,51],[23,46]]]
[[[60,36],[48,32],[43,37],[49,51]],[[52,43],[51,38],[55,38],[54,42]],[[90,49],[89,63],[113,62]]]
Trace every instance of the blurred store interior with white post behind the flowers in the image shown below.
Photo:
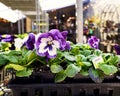
[[[118,0],[0,0],[0,34],[57,28],[67,30],[73,43],[79,41],[76,38],[86,43],[94,35],[100,38],[100,49],[112,52],[114,44],[120,43],[119,5]]]

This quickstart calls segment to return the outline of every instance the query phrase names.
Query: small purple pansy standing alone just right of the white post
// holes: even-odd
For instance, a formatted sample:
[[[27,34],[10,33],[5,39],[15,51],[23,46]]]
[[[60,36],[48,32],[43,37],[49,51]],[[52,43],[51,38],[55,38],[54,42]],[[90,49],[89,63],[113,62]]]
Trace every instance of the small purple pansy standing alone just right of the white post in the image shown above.
[[[96,36],[91,36],[91,38],[88,39],[88,44],[95,49],[98,49],[100,40]]]

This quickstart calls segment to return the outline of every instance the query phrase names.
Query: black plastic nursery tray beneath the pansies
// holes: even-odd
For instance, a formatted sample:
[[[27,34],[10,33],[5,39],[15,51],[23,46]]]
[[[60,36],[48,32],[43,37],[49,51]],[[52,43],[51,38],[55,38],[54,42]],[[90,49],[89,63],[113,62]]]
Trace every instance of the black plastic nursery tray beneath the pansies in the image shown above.
[[[120,81],[107,77],[103,83],[94,83],[89,77],[66,78],[55,83],[54,75],[17,77],[8,87],[13,96],[120,96]]]

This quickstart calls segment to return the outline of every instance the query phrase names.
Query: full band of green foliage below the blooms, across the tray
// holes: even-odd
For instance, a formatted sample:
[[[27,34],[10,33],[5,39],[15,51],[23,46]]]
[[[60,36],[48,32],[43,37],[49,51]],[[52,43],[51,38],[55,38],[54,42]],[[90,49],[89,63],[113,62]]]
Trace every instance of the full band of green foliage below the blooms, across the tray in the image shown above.
[[[98,67],[95,68],[93,59],[99,56],[103,62],[97,63]],[[18,77],[28,77],[36,66],[45,66],[55,74],[55,82],[62,82],[67,77],[74,78],[77,74],[89,76],[94,82],[102,82],[106,75],[111,76],[118,72],[119,61],[119,55],[103,53],[88,44],[72,44],[71,50],[58,50],[57,57],[52,59],[40,57],[35,50],[26,48],[0,52],[1,68],[12,69]]]

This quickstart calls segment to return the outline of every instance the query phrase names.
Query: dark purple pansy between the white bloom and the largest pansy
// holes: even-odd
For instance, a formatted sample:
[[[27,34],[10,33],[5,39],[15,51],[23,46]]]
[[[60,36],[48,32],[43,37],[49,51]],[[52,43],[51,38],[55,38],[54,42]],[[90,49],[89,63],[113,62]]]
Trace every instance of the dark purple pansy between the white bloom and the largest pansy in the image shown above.
[[[33,50],[34,49],[34,45],[35,45],[35,35],[33,33],[30,33],[28,36],[27,41],[24,43],[24,45],[26,45],[27,49],[29,50]]]

